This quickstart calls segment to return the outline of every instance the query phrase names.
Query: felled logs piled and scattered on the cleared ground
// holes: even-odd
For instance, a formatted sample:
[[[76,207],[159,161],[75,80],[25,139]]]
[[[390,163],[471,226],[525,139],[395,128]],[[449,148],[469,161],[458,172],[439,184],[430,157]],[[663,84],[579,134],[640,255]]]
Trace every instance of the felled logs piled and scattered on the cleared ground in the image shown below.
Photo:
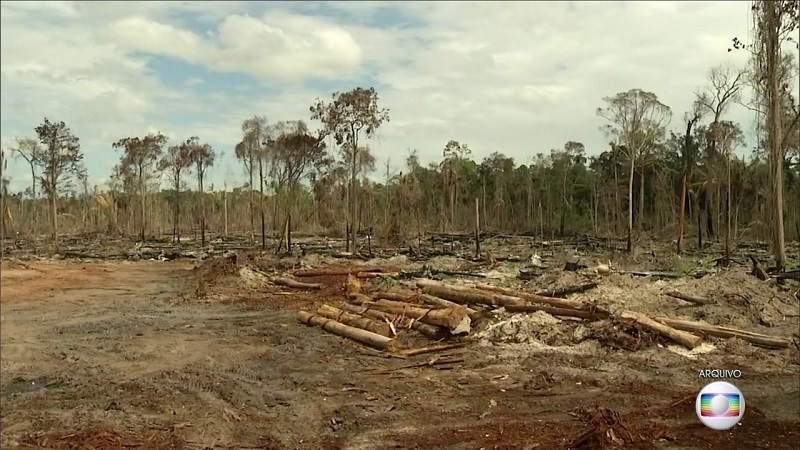
[[[788,348],[791,340],[757,333],[718,327],[665,317],[648,317],[635,311],[612,313],[596,303],[562,298],[572,292],[581,292],[596,287],[585,284],[576,288],[558,291],[523,292],[489,284],[476,283],[470,287],[454,286],[430,279],[418,279],[412,290],[392,290],[365,294],[359,278],[363,274],[378,274],[380,269],[320,269],[294,272],[295,277],[324,275],[346,276],[345,302],[338,306],[322,305],[311,313],[300,311],[298,320],[308,325],[366,344],[370,347],[402,356],[452,348],[450,343],[438,341],[468,335],[475,321],[485,318],[489,311],[503,310],[507,313],[546,312],[571,320],[623,320],[651,333],[663,336],[688,349],[698,347],[706,336],[738,337],[754,345],[766,348]],[[275,278],[276,284],[300,289],[320,289],[314,284],[298,282],[289,278]],[[289,282],[291,281],[291,282]],[[666,295],[695,304],[705,304],[709,299],[691,297],[678,292]],[[437,341],[432,346],[418,349],[403,349],[397,336],[402,332],[414,332],[427,339]],[[421,352],[421,353],[417,353]]]

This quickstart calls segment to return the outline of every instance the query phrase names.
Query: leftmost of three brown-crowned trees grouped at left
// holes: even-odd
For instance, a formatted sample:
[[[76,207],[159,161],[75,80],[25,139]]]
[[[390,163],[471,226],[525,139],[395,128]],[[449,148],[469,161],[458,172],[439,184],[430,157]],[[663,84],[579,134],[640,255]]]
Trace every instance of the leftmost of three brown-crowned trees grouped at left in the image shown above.
[[[128,173],[138,187],[139,206],[141,221],[139,222],[139,237],[145,241],[145,229],[147,228],[146,202],[147,182],[153,176],[151,173],[156,167],[155,164],[164,151],[167,138],[161,133],[150,133],[144,138],[128,137],[120,139],[112,144],[113,148],[121,148],[123,153],[120,157],[120,170]]]

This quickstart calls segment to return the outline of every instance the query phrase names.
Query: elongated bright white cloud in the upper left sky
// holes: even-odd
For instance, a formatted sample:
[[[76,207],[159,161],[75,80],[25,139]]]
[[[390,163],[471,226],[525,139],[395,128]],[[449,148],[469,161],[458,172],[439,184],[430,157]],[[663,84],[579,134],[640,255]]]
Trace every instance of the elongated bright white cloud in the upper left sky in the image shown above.
[[[282,12],[260,19],[228,16],[210,37],[141,16],[115,21],[105,34],[129,51],[286,81],[348,75],[362,58],[346,30],[326,20]]]

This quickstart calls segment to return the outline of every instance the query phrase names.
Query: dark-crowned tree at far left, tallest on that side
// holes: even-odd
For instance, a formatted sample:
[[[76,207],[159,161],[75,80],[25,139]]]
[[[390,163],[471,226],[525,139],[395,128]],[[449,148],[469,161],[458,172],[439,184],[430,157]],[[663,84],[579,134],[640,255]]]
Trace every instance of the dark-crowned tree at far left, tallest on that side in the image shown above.
[[[36,165],[41,170],[41,185],[50,200],[53,245],[58,249],[58,196],[69,187],[71,177],[82,169],[83,152],[77,136],[64,122],[50,122],[46,117],[35,128],[44,151]]]

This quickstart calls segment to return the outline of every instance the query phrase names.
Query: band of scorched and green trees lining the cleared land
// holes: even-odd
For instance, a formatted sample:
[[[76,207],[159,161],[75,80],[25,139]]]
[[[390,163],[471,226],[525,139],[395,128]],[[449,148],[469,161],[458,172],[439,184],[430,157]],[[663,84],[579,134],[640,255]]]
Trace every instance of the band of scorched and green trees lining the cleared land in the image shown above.
[[[171,235],[179,242],[188,229],[204,246],[208,230],[247,233],[254,244],[260,236],[262,248],[277,235],[278,251],[292,248],[292,230],[305,229],[343,234],[350,251],[365,232],[405,245],[431,230],[471,230],[477,205],[485,230],[624,235],[629,251],[641,233],[674,238],[678,253],[687,235],[700,247],[721,241],[726,258],[740,239],[769,239],[782,268],[785,225],[800,239],[800,106],[791,94],[798,62],[782,50],[798,29],[797,2],[753,8],[755,43],[734,39],[731,49],[750,52],[747,67],[712,68],[679,121],[653,92],[603,98],[597,114],[609,143],[596,156],[576,140],[522,164],[500,152],[478,161],[467,143],[449,140],[438,162],[423,165],[411,151],[402,171],[387,162],[376,175],[364,143],[389,122],[389,111],[374,88],[359,87],[310,106],[319,131],[303,120],[244,120],[233,146],[247,176],[242,186],[206,188],[218,153],[199,137],[169,145],[152,133],[112,143],[120,160],[101,191],[89,189],[78,138],[64,122],[44,119],[36,138],[18,138],[10,149],[34,181],[10,195],[4,178],[2,224],[36,234],[47,217],[44,229],[56,243],[59,222],[143,241]],[[747,101],[745,86],[753,92]],[[757,145],[745,157],[736,153],[742,127],[726,119],[734,104],[756,116]]]

